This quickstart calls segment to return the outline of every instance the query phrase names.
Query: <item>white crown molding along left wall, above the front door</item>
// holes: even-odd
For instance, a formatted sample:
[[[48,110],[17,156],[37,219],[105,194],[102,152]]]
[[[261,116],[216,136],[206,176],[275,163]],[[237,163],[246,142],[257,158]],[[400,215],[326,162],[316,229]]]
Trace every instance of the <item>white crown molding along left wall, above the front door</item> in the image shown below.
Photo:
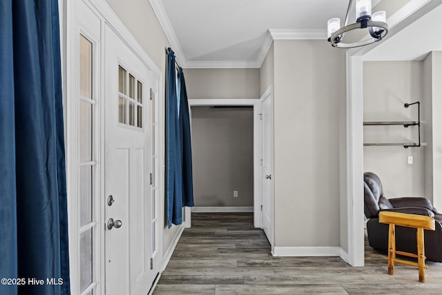
[[[171,44],[171,48],[173,48],[173,52],[177,57],[177,63],[180,64],[182,68],[186,68],[186,58],[182,53],[180,42],[178,42],[175,32],[173,31],[171,21],[169,21],[169,17],[167,17],[166,14],[166,10],[164,10],[163,3],[161,2],[161,0],[149,0],[149,3],[151,3],[153,12],[155,12],[158,21],[160,21],[160,25],[164,30],[166,38]]]

